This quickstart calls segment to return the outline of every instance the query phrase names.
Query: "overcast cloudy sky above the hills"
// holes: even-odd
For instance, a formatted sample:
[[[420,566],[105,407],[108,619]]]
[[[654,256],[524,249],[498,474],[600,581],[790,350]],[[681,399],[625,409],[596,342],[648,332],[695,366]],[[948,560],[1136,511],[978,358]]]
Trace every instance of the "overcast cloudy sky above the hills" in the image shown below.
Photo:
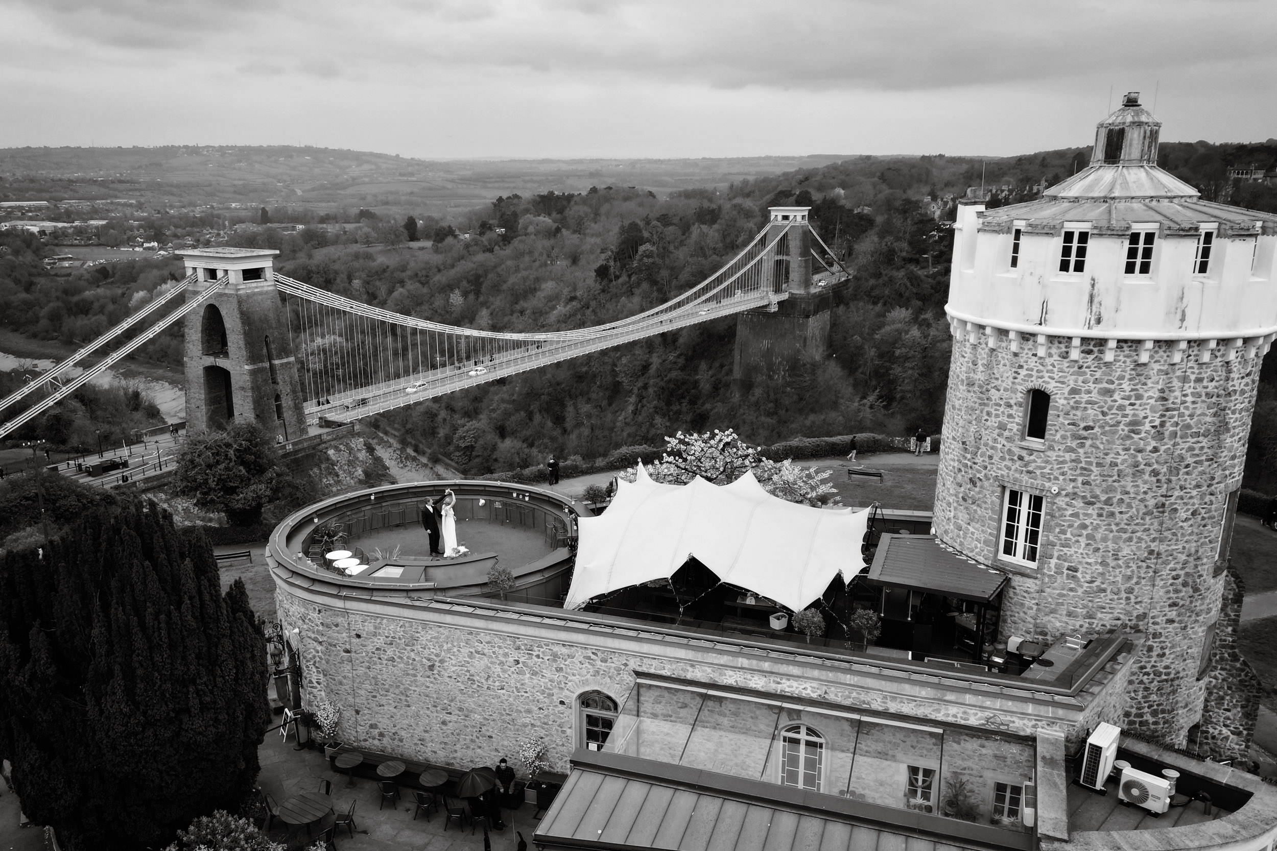
[[[1011,154],[1154,88],[1163,139],[1250,142],[1274,33],[1272,0],[0,0],[0,147]]]

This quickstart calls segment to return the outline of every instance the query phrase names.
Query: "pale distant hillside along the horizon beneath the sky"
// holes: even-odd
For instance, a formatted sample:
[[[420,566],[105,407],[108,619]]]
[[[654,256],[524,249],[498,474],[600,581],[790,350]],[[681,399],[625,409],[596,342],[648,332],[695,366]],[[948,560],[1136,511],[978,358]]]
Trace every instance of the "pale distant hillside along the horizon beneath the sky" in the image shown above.
[[[130,199],[146,208],[246,203],[446,214],[497,195],[635,186],[664,195],[847,154],[706,159],[425,161],[303,147],[0,149],[0,200]]]

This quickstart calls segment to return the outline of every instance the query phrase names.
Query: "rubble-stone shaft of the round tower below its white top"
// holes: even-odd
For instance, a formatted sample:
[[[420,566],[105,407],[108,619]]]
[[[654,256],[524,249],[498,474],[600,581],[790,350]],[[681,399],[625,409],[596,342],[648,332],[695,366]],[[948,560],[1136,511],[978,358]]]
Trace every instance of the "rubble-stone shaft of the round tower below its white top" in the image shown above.
[[[1183,745],[1202,712],[1197,679],[1223,577],[1217,559],[1227,494],[1241,484],[1259,357],[1199,362],[1158,342],[963,330],[953,350],[936,484],[937,536],[1013,574],[1002,638],[1051,640],[1107,628],[1143,632],[1125,726]],[[1220,350],[1216,350],[1217,352]],[[1051,394],[1043,445],[1023,440],[1024,398]],[[1000,558],[1005,487],[1045,499],[1041,552]]]

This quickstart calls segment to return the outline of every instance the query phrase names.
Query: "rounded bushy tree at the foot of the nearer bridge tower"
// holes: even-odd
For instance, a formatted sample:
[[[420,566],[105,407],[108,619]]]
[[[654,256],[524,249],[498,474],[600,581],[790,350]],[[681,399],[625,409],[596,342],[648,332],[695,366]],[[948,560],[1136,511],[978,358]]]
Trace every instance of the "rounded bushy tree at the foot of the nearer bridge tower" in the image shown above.
[[[203,509],[225,512],[231,526],[262,522],[262,509],[280,499],[289,477],[266,430],[235,422],[186,440],[178,455],[178,494]]]

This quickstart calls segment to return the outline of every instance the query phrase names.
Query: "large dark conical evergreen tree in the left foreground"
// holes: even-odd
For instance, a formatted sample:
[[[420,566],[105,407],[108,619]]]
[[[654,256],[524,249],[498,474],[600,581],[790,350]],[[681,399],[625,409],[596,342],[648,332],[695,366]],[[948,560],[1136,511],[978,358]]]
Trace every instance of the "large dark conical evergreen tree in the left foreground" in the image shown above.
[[[252,791],[266,638],[212,547],[153,501],[0,559],[0,757],[72,851],[158,847]]]

